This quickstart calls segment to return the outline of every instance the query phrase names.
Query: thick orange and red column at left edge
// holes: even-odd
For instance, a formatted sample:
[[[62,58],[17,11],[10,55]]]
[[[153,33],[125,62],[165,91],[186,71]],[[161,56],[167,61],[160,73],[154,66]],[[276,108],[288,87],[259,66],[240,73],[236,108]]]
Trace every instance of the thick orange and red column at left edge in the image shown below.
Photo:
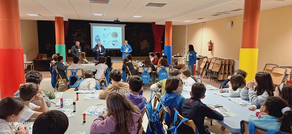
[[[14,96],[24,83],[18,0],[0,0],[0,96]],[[9,59],[8,59],[9,58]],[[9,61],[9,64],[7,64]]]

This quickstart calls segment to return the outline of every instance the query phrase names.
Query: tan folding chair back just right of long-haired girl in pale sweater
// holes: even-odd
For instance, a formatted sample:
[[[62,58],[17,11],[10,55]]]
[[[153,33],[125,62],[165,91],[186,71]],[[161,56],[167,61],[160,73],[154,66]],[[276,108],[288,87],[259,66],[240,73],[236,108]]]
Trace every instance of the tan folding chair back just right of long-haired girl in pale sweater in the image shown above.
[[[287,69],[281,67],[273,67],[271,76],[275,85],[280,85],[285,80]]]

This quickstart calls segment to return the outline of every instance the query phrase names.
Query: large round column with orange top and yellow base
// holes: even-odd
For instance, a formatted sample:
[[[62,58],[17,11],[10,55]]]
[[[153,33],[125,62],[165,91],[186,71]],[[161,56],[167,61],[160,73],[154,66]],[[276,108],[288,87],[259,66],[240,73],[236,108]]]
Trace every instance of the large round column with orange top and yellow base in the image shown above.
[[[239,68],[248,73],[247,81],[257,72],[258,27],[261,0],[244,0],[242,43],[239,53]]]

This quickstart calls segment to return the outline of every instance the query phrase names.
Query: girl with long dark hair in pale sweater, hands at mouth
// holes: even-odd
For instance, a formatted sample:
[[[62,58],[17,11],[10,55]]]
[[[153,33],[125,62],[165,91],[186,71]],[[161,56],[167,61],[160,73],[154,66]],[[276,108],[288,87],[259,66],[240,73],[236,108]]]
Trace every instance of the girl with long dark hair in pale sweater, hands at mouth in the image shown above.
[[[254,81],[247,82],[245,87],[240,90],[240,97],[249,100],[251,104],[262,104],[269,96],[274,96],[274,89],[271,74],[257,72]]]

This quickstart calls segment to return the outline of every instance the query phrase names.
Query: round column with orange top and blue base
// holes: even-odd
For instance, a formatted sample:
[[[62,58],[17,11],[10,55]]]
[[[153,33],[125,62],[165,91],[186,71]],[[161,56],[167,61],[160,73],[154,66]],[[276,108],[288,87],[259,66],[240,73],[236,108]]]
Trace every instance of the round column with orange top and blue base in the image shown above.
[[[167,56],[167,61],[171,64],[172,56],[172,21],[165,22],[165,44],[164,55]]]

